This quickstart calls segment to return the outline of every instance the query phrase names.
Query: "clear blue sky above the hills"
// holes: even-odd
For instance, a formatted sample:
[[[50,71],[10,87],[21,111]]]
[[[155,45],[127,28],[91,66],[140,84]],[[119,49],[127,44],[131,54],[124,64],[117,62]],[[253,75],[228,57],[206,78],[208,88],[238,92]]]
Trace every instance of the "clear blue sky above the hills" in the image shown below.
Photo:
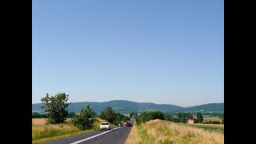
[[[224,102],[223,0],[33,0],[32,103]]]

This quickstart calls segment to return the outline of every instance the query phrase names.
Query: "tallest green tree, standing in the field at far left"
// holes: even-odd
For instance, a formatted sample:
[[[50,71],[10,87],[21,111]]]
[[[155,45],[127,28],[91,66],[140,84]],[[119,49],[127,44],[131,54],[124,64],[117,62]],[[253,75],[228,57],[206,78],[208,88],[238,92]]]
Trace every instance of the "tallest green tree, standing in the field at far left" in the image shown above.
[[[51,97],[49,97],[49,94],[46,94],[46,97],[41,99],[41,108],[45,109],[47,123],[59,124],[66,120],[68,114],[66,108],[70,105],[70,103],[66,103],[69,99],[68,97],[68,94],[58,93]]]

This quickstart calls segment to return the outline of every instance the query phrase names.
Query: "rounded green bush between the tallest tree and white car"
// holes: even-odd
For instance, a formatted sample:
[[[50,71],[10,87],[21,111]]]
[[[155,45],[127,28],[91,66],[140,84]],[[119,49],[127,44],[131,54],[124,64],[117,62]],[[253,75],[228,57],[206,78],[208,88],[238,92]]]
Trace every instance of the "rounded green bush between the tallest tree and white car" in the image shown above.
[[[79,129],[88,130],[94,127],[96,114],[90,109],[90,106],[87,105],[86,109],[81,109],[79,114],[74,116],[72,122],[74,123],[74,126],[77,126]]]

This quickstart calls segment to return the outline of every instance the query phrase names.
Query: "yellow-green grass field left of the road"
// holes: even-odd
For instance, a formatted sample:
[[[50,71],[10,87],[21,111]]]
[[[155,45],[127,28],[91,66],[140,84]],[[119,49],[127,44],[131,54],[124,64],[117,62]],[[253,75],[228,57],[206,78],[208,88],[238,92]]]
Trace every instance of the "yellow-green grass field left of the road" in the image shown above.
[[[105,122],[98,118],[94,123],[93,130],[79,130],[70,123],[71,118],[66,123],[57,125],[46,124],[46,118],[32,118],[32,143],[46,142],[58,138],[65,138],[75,134],[82,134],[93,130],[98,130],[100,123]]]

